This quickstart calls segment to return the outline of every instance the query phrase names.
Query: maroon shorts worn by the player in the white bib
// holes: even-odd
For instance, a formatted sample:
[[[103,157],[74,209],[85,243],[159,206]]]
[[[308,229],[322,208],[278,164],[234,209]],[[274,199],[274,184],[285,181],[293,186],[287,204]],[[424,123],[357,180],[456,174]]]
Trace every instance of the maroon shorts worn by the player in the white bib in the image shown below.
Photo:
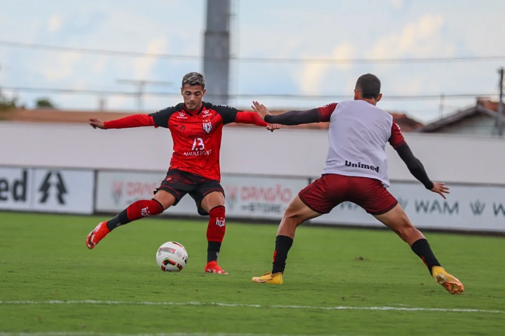
[[[352,202],[372,215],[388,212],[398,204],[396,198],[375,179],[325,174],[298,193],[309,208],[328,213],[342,202]]]

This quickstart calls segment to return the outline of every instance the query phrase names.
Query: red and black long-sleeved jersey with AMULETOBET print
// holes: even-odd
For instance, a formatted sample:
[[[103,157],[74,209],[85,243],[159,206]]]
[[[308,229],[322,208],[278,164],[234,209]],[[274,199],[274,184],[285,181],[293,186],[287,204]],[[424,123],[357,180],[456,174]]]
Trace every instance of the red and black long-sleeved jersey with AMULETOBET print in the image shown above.
[[[203,102],[198,111],[189,111],[184,103],[163,108],[156,113],[134,115],[105,122],[106,129],[154,126],[168,128],[174,142],[169,169],[179,169],[221,181],[219,152],[223,126],[230,123],[266,127],[255,112]]]

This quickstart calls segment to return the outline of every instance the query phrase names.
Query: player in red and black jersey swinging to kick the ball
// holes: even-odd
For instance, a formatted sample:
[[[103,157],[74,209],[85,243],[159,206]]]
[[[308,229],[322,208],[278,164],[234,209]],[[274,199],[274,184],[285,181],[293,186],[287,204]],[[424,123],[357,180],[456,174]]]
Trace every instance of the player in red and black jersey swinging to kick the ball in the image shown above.
[[[199,73],[188,73],[182,79],[183,103],[152,114],[133,115],[102,122],[89,119],[89,125],[99,129],[120,129],[142,126],[164,127],[172,133],[172,159],[166,178],[154,191],[154,198],[130,204],[116,217],[100,222],[86,238],[92,249],[115,228],[131,221],[162,213],[186,194],[191,196],[198,214],[210,216],[207,227],[206,272],[227,274],[217,259],[226,230],[225,195],[220,184],[219,151],[223,126],[229,123],[254,124],[270,131],[279,125],[268,124],[257,113],[237,110],[202,101],[205,79]]]

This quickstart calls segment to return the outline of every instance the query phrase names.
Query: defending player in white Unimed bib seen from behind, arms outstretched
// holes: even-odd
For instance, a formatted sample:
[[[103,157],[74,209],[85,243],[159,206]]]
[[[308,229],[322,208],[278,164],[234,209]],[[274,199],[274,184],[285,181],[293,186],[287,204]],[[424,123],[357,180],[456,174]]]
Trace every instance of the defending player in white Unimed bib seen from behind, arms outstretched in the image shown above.
[[[451,294],[461,294],[463,284],[440,266],[424,235],[417,230],[398,201],[387,191],[389,142],[407,164],[411,174],[426,189],[449,193],[443,183],[432,182],[423,164],[414,156],[392,116],[377,102],[382,98],[380,80],[365,74],[358,78],[354,100],[331,103],[305,111],[288,111],[272,116],[268,109],[253,102],[254,110],[265,122],[299,125],[329,122],[328,154],[322,176],[302,189],[291,201],[280,222],[275,241],[272,270],[252,278],[256,283],[282,284],[286,258],[293,244],[296,227],[302,222],[330,212],[338,204],[358,204],[394,231],[426,264],[435,281]]]

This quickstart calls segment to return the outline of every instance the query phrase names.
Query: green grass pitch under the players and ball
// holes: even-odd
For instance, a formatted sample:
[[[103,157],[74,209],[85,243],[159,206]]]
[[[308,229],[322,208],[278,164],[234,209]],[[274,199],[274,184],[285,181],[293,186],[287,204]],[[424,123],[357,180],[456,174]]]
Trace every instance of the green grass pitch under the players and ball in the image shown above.
[[[453,296],[388,231],[300,227],[273,286],[251,277],[277,226],[229,221],[218,275],[203,273],[206,221],[144,219],[88,250],[102,219],[0,212],[0,335],[505,334],[503,238],[426,234],[465,285]],[[169,240],[188,250],[180,273],[157,268]]]

